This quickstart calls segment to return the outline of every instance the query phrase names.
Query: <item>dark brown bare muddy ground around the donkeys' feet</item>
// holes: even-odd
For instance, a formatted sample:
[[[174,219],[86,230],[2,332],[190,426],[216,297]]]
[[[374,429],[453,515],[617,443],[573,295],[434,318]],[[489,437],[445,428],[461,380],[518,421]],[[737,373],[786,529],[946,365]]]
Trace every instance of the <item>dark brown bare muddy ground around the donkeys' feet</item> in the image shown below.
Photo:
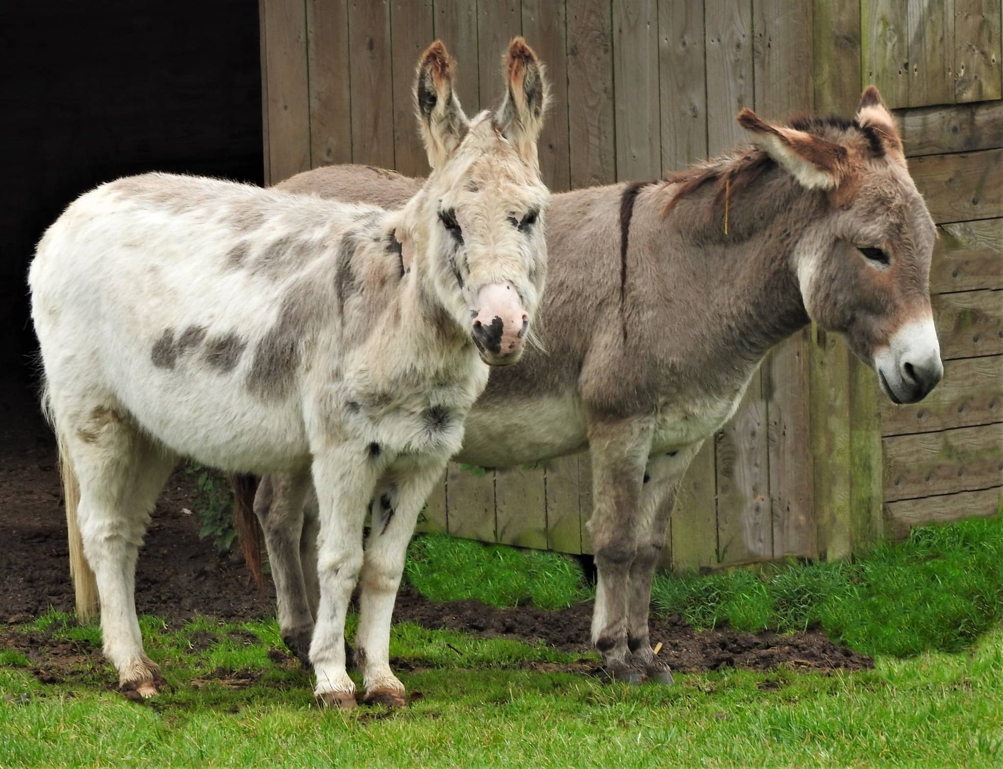
[[[38,413],[28,386],[0,383],[0,623],[17,625],[49,607],[72,611],[64,510],[56,469],[55,442]],[[196,489],[183,470],[168,483],[139,553],[136,604],[140,614],[180,622],[197,614],[221,620],[247,620],[274,614],[274,591],[259,598],[247,569],[218,557],[209,540],[199,538],[194,513]],[[467,631],[485,638],[542,641],[570,652],[591,648],[591,603],[562,612],[532,606],[493,609],[475,601],[437,604],[404,588],[394,612],[396,622],[427,628]],[[652,618],[652,643],[680,671],[727,666],[771,669],[787,665],[805,670],[858,670],[871,660],[841,648],[820,633],[776,636],[730,629],[697,633],[679,617]],[[55,657],[96,654],[77,642],[45,634],[0,629],[0,647],[16,647],[45,669]]]

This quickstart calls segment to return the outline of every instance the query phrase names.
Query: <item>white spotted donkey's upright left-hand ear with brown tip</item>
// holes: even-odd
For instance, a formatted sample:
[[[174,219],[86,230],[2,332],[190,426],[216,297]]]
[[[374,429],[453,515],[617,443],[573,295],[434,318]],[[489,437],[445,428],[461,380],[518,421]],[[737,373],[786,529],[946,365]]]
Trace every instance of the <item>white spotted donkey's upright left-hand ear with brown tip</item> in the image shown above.
[[[414,81],[414,101],[428,164],[437,168],[459,146],[469,120],[452,87],[455,62],[441,40],[421,54]]]

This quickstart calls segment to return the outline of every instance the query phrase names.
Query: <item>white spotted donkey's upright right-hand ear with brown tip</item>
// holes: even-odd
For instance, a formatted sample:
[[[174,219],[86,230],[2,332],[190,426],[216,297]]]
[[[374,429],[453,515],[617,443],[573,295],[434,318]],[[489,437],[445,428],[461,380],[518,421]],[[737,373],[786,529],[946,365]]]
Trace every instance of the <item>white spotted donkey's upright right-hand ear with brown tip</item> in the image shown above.
[[[498,109],[498,128],[523,159],[536,165],[537,139],[551,98],[550,83],[544,76],[544,65],[522,37],[513,38],[501,61],[506,94]]]

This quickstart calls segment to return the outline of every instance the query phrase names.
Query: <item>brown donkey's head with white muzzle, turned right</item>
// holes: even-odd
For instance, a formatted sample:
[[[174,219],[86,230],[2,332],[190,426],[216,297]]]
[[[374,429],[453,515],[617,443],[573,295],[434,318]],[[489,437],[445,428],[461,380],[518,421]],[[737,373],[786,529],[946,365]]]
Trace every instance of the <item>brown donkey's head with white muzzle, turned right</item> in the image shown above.
[[[916,189],[892,114],[864,91],[853,122],[774,125],[738,116],[821,213],[794,246],[792,268],[811,319],[847,335],[896,403],[922,400],[944,367],[930,307],[937,231]]]

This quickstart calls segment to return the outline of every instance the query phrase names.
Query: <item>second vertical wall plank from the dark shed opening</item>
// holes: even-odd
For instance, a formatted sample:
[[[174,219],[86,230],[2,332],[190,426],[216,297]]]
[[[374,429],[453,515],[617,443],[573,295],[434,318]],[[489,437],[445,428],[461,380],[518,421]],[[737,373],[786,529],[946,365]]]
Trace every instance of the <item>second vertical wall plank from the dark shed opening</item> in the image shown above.
[[[311,166],[352,161],[348,0],[307,0]]]

